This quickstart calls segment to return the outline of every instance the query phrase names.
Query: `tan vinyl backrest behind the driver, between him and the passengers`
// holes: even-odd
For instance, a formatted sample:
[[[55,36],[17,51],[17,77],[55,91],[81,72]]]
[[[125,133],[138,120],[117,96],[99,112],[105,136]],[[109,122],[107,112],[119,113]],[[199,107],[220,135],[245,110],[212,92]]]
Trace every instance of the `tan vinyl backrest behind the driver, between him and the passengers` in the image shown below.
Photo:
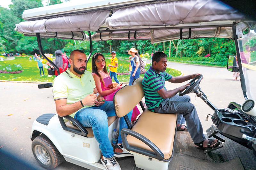
[[[117,117],[127,115],[144,97],[142,78],[138,78],[133,85],[126,85],[114,96],[114,106]]]

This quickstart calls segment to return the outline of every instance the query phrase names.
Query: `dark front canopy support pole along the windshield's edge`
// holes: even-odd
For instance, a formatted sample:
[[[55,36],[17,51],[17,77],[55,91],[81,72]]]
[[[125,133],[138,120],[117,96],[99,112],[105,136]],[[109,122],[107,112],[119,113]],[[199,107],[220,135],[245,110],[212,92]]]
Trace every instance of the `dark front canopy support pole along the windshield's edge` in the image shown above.
[[[239,46],[238,46],[238,41],[237,41],[237,34],[236,34],[236,23],[234,22],[233,26],[232,26],[232,32],[233,32],[233,38],[235,41],[235,45],[236,45],[236,55],[237,55],[237,62],[238,62],[238,66],[239,66],[239,72],[240,72],[240,82],[241,82],[241,87],[242,87],[242,91],[244,94],[244,99],[247,100],[247,94],[246,94],[246,85],[245,85],[245,78],[244,78],[244,73],[243,73],[243,69],[242,69],[242,62],[241,62],[241,57],[240,57],[240,52],[239,52]],[[241,48],[242,45],[241,45]]]

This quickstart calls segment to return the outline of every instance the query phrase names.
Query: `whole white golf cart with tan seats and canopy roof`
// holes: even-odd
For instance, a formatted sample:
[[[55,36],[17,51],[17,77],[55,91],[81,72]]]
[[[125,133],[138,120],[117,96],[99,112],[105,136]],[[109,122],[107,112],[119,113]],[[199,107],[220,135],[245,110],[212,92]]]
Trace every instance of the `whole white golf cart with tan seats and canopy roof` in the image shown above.
[[[230,55],[227,69],[240,73],[244,104],[231,101],[226,109],[214,106],[199,86],[202,76],[191,80],[191,85],[179,93],[194,92],[212,108],[214,125],[207,130],[207,136],[219,139],[221,143],[218,146],[204,151],[196,149],[187,132],[176,131],[177,115],[157,114],[145,109],[141,102],[144,97],[141,78],[116,93],[115,112],[117,117],[124,117],[128,125],[128,129],[121,132],[123,146],[133,155],[138,168],[256,167],[256,93],[250,84],[255,79],[256,59],[244,52],[246,45],[255,47],[256,24],[243,14],[215,0],[102,0],[30,9],[23,12],[23,18],[27,21],[17,24],[16,31],[36,36],[40,54],[58,72],[58,67],[44,55],[41,38],[90,41],[88,61],[92,55],[92,41],[150,40],[151,43],[159,43],[177,39],[232,38],[238,64],[236,56]],[[96,33],[91,35],[90,31]],[[38,87],[51,87],[51,83]],[[143,113],[132,126],[126,114],[138,103]],[[118,121],[116,117],[108,118],[109,140],[113,129],[118,129]],[[44,168],[55,168],[66,160],[88,169],[105,169],[99,162],[101,152],[92,128],[83,127],[71,116],[39,116],[33,123],[30,138],[33,154]],[[131,158],[117,160],[122,167],[122,161],[127,159]],[[131,164],[122,168],[136,167]]]

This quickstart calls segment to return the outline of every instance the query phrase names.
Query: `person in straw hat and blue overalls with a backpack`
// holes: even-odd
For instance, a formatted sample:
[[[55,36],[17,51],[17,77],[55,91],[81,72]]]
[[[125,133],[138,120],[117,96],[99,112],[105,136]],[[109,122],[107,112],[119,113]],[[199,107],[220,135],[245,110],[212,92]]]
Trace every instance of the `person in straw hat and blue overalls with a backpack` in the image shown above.
[[[132,85],[133,80],[140,77],[140,59],[137,56],[138,50],[136,50],[136,48],[131,48],[128,51],[128,54],[132,55],[129,57],[129,60],[130,60],[131,66],[132,66],[129,85]]]

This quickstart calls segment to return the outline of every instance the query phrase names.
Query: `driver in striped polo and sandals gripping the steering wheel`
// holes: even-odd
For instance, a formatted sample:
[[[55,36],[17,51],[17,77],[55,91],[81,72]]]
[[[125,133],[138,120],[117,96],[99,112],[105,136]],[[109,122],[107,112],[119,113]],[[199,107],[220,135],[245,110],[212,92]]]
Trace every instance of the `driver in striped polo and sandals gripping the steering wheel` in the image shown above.
[[[167,55],[163,52],[156,52],[152,57],[152,66],[145,73],[142,81],[145,102],[148,109],[156,113],[183,115],[188,126],[189,134],[197,148],[209,149],[217,146],[219,144],[217,139],[205,139],[196,107],[190,103],[190,97],[188,95],[177,95],[178,92],[185,90],[190,83],[168,91],[164,87],[165,81],[182,83],[196,78],[200,74],[172,77],[172,75],[165,72],[166,68]]]

